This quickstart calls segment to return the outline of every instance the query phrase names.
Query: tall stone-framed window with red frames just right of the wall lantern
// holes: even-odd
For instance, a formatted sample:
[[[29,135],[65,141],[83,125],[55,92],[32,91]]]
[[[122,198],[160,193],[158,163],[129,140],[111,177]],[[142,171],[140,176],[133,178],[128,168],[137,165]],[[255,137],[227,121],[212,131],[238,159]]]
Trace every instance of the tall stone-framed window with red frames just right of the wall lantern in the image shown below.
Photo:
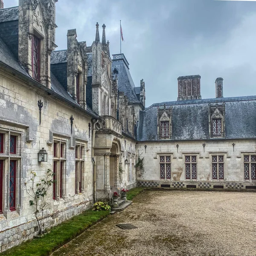
[[[67,149],[68,139],[62,137],[53,137],[52,166],[56,180],[52,186],[52,200],[60,200],[66,195],[66,174],[67,174]],[[57,169],[57,170],[56,170]]]

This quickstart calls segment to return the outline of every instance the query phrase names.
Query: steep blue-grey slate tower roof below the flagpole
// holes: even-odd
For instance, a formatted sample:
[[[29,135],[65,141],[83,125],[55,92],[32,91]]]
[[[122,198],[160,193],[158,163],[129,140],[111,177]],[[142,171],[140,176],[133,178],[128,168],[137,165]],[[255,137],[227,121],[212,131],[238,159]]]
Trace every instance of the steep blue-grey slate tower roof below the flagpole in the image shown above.
[[[122,54],[123,55],[123,54]],[[128,66],[126,65],[124,59],[113,59],[112,60],[112,72],[116,68],[118,71],[117,79],[118,79],[118,90],[120,92],[124,92],[125,96],[127,96],[128,101],[131,103],[140,102],[137,99],[137,95],[135,93],[135,85],[132,80],[131,73],[129,71]]]

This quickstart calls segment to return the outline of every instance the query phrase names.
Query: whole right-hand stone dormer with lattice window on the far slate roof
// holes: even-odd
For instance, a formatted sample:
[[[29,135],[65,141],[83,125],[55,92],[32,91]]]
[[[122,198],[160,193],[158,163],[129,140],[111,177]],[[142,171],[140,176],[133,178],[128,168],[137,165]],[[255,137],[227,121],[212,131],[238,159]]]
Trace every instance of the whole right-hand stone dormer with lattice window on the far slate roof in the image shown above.
[[[209,104],[209,137],[225,138],[225,103]]]

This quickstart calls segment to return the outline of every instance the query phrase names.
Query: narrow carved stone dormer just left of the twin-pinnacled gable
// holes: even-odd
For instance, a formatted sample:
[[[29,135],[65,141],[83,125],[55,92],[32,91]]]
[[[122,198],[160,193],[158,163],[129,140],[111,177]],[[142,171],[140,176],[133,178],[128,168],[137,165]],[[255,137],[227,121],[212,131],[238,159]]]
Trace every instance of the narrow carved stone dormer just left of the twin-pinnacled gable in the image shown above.
[[[76,38],[76,29],[67,31],[67,91],[86,109],[86,42],[78,42]]]

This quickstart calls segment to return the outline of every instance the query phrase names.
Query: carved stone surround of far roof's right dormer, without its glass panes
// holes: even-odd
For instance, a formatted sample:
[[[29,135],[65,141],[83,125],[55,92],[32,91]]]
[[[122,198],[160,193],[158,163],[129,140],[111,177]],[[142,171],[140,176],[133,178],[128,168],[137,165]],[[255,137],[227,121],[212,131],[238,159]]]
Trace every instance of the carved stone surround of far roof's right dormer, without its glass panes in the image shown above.
[[[212,110],[214,109],[214,111]],[[221,113],[222,112],[222,113]],[[213,120],[221,119],[221,134],[213,134]],[[209,104],[209,137],[210,138],[225,138],[225,104],[215,105]]]

